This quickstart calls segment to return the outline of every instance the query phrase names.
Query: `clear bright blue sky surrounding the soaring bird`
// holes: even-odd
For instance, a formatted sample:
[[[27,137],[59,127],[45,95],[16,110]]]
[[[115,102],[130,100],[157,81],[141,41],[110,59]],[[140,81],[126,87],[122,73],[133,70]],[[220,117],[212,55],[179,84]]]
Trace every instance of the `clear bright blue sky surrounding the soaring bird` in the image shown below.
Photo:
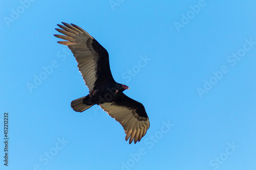
[[[255,5],[1,1],[1,169],[255,169]],[[145,106],[140,142],[99,106],[70,107],[88,88],[53,36],[62,21],[108,50],[115,80]]]

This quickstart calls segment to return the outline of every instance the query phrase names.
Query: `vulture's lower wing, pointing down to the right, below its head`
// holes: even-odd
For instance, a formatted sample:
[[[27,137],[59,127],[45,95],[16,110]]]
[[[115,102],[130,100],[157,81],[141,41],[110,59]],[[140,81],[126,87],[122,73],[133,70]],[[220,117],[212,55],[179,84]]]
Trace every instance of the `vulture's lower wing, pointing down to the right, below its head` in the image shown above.
[[[125,140],[130,137],[130,144],[133,140],[134,143],[140,141],[150,128],[150,121],[144,106],[123,93],[115,102],[103,103],[100,107],[123,126],[126,133]]]

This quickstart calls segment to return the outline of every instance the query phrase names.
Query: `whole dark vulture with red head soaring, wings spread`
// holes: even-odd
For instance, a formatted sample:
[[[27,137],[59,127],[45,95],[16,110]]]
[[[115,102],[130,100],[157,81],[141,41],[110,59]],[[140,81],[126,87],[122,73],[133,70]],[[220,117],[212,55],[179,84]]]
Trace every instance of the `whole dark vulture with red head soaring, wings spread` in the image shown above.
[[[123,93],[130,89],[117,83],[110,70],[109,54],[103,46],[90,34],[74,24],[61,22],[56,29],[63,35],[54,35],[65,41],[57,41],[67,45],[72,51],[89,94],[71,102],[74,111],[83,112],[93,105],[99,105],[111,117],[119,122],[131,144],[140,141],[150,128],[144,106]]]

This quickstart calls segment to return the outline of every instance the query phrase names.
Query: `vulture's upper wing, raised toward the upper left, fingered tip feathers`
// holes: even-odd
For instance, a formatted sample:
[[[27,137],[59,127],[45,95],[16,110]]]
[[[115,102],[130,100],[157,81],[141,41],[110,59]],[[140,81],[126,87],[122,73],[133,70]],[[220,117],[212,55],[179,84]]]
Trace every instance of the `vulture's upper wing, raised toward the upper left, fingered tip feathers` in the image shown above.
[[[76,61],[77,67],[82,74],[89,91],[104,85],[106,82],[114,81],[109,64],[109,54],[98,41],[80,27],[71,23],[62,22],[57,25],[61,29],[56,29],[64,35],[54,35],[67,41],[58,43],[67,45]]]

